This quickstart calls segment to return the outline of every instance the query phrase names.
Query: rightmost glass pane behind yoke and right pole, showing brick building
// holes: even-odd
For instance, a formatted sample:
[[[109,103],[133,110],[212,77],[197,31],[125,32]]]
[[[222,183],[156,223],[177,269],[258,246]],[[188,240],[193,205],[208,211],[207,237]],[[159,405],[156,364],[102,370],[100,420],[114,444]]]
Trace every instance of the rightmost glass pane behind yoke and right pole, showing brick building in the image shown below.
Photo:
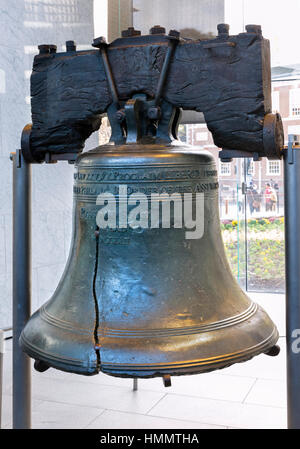
[[[282,0],[225,0],[230,33],[240,33],[246,24],[255,23],[270,40],[272,111],[283,118],[286,143],[288,133],[300,134],[300,61],[293,45],[298,40],[299,13],[299,0],[286,0],[284,7]],[[246,227],[246,286],[250,291],[279,293],[285,288],[283,165],[266,158],[252,164],[246,163],[242,190],[246,193],[241,211]],[[228,257],[234,266],[235,250]]]

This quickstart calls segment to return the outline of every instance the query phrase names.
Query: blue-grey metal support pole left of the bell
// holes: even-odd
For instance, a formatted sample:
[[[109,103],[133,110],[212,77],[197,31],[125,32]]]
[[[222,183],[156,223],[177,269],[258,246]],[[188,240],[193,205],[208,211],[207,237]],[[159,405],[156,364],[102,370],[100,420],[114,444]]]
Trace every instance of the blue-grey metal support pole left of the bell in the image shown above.
[[[19,337],[31,313],[31,166],[13,160],[13,428],[31,427],[31,364]]]

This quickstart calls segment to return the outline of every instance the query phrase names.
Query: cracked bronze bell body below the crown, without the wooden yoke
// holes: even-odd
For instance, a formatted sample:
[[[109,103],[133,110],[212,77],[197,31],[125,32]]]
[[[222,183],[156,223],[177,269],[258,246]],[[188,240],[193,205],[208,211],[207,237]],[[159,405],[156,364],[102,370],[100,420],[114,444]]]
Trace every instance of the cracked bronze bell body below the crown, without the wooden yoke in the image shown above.
[[[226,259],[209,153],[178,144],[106,145],[80,155],[75,167],[69,260],[54,295],[21,335],[38,369],[181,375],[274,352],[275,325],[241,290]],[[169,227],[161,220],[156,227],[120,226],[120,206],[128,196],[130,217],[138,204],[137,196],[129,204],[130,195],[138,192],[147,200],[155,194],[161,208],[167,194],[189,193],[194,202],[202,194],[201,238],[186,238],[173,203]],[[115,198],[115,228],[97,224],[103,193]]]

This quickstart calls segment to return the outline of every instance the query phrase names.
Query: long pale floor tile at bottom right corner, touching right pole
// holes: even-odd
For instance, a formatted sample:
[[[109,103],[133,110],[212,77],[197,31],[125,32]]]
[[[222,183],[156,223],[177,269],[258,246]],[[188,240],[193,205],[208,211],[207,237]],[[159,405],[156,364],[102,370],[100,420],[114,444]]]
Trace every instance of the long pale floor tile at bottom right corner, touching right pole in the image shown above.
[[[284,409],[190,396],[167,395],[149,415],[242,429],[286,428]]]

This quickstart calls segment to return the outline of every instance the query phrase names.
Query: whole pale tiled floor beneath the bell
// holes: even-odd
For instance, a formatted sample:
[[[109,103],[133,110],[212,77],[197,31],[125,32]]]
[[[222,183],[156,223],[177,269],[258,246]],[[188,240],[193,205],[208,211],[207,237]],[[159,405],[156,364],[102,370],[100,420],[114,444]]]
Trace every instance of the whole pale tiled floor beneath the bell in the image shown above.
[[[280,331],[278,357],[209,374],[132,381],[104,374],[94,377],[54,369],[33,371],[33,428],[286,428],[283,295],[251,294]],[[3,427],[11,427],[11,344],[5,354]]]

